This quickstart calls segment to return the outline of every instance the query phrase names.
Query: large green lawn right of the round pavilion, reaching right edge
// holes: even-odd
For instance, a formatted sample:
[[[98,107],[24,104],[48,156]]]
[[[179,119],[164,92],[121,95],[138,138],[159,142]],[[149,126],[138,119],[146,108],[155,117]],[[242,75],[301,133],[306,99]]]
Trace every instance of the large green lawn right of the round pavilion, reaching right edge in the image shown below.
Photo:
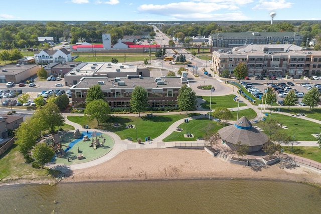
[[[286,116],[282,114],[272,113],[266,120],[274,119],[279,121],[283,126],[287,126],[288,129],[281,129],[284,133],[289,136],[293,136],[295,133],[295,140],[307,140],[314,141],[315,137],[312,134],[320,132],[320,124],[300,119],[299,117]],[[265,121],[260,121],[257,123],[258,127],[262,127],[261,124]],[[267,132],[264,130],[264,133]]]

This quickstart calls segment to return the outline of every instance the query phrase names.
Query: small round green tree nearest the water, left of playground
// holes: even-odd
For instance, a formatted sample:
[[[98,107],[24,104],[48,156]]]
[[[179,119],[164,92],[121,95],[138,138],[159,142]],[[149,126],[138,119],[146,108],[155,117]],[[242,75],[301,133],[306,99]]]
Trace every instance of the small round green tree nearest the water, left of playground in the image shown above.
[[[33,150],[33,157],[35,158],[36,163],[41,165],[41,168],[44,168],[44,165],[49,163],[54,156],[55,151],[47,146],[46,143],[38,143]]]

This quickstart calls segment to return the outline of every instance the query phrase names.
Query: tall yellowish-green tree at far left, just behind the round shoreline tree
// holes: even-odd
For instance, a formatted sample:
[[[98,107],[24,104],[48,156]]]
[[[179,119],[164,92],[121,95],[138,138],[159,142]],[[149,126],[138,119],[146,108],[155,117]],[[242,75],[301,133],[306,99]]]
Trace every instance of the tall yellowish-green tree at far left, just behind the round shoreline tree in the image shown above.
[[[19,151],[23,155],[27,155],[33,146],[36,145],[39,137],[39,130],[34,126],[34,120],[27,118],[25,122],[21,123],[18,129],[15,130],[17,137],[16,143],[19,146]]]

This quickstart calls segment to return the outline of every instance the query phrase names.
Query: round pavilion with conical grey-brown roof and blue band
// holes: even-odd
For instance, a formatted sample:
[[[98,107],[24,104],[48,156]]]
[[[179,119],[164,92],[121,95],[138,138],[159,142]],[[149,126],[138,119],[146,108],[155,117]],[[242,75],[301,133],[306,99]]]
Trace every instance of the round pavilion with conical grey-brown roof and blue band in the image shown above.
[[[234,125],[226,126],[218,131],[222,143],[233,150],[238,142],[249,145],[249,152],[259,151],[268,137],[263,132],[252,127],[252,123],[245,117],[241,117]]]

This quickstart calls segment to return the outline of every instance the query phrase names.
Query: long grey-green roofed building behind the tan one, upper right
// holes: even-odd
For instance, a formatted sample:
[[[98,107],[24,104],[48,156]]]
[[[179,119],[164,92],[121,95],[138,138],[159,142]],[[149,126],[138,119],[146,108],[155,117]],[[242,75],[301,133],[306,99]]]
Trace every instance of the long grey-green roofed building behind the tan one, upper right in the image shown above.
[[[212,48],[233,48],[246,44],[295,44],[301,45],[303,36],[296,32],[239,32],[215,33],[209,36]]]

